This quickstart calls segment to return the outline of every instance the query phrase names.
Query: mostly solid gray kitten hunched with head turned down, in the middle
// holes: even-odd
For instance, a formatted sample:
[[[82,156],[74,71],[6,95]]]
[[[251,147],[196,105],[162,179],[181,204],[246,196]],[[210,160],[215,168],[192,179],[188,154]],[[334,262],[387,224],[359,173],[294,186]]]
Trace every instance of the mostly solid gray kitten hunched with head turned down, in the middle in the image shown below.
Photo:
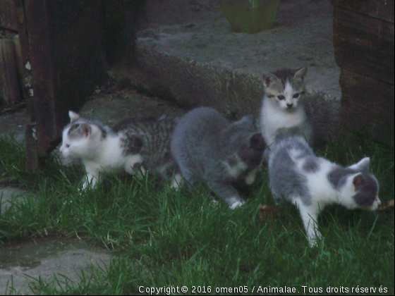
[[[253,116],[229,123],[211,108],[186,113],[171,138],[171,154],[183,178],[190,185],[204,181],[231,209],[243,204],[231,183],[241,177],[254,183],[265,147]]]

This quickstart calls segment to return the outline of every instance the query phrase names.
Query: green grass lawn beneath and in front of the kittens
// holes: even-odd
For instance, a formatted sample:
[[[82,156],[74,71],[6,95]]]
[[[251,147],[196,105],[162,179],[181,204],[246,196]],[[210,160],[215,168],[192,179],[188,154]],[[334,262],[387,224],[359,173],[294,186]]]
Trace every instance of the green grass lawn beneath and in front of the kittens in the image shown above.
[[[370,156],[382,202],[394,199],[393,140],[350,135],[317,149],[317,155],[343,165]],[[114,252],[110,266],[92,266],[92,275],[81,273],[79,284],[60,275],[52,282],[35,279],[37,294],[123,295],[138,294],[140,287],[177,286],[188,287],[188,295],[193,287],[195,294],[213,295],[231,294],[217,288],[241,286],[248,293],[284,286],[307,294],[332,294],[329,287],[344,289],[338,294],[359,294],[351,290],[357,287],[377,288],[367,294],[379,294],[380,287],[394,293],[394,211],[326,209],[319,221],[324,241],[310,248],[292,206],[279,207],[271,229],[260,221],[259,204],[274,204],[266,172],[253,188],[241,188],[248,202],[232,211],[223,202],[213,204],[205,187],[176,192],[150,176],[110,175],[81,194],[80,168],[48,159],[41,172],[26,171],[24,149],[4,138],[0,157],[0,182],[31,192],[0,214],[0,244],[78,235]],[[56,283],[61,287],[54,288]]]

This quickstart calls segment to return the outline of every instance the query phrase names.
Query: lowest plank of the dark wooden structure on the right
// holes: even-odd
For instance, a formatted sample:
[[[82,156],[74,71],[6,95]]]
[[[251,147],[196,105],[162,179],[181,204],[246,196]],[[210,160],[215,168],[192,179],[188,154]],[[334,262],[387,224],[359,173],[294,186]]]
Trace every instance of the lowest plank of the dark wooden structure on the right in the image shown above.
[[[394,85],[342,70],[341,122],[348,130],[374,128],[377,137],[394,135]]]

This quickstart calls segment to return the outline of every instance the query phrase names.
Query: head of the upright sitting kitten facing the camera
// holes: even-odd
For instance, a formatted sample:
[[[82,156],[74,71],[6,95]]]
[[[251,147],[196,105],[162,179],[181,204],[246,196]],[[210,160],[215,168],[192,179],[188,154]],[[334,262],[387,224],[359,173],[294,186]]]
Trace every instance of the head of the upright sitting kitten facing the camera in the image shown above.
[[[305,93],[307,71],[308,68],[304,67],[299,70],[284,69],[274,73],[264,73],[265,96],[276,102],[281,109],[296,109]]]

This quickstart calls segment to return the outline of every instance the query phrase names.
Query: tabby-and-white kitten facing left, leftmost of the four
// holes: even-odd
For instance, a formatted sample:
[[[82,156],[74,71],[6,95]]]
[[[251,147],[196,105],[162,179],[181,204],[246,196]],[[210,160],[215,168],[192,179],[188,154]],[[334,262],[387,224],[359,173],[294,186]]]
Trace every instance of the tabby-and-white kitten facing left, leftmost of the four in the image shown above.
[[[163,178],[171,178],[176,171],[170,153],[176,118],[135,118],[109,128],[73,111],[68,114],[71,123],[63,129],[60,152],[83,161],[87,173],[83,189],[96,185],[104,171],[126,171],[132,175],[151,171]]]

